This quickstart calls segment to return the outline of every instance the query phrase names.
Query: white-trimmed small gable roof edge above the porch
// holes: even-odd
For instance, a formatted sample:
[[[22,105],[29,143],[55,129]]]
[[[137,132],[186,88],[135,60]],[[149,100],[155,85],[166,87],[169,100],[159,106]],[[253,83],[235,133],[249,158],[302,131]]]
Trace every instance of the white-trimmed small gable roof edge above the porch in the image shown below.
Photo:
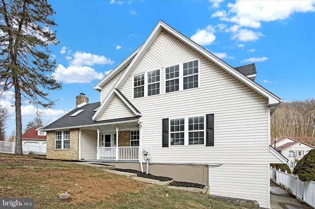
[[[141,116],[141,113],[133,104],[130,103],[130,101],[120,92],[118,89],[112,88],[112,90],[108,93],[107,97],[105,100],[100,104],[99,108],[96,110],[95,114],[92,117],[92,120],[97,120],[100,115],[104,112],[108,104],[112,101],[114,98],[115,94],[128,106],[128,108],[138,116]]]

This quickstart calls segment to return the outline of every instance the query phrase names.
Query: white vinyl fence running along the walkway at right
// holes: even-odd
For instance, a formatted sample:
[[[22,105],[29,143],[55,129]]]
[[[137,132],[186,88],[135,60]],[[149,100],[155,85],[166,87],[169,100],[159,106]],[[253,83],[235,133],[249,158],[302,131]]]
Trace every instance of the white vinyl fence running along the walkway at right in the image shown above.
[[[284,186],[296,198],[315,208],[315,182],[302,182],[297,176],[275,168],[270,169],[270,179],[274,183]]]

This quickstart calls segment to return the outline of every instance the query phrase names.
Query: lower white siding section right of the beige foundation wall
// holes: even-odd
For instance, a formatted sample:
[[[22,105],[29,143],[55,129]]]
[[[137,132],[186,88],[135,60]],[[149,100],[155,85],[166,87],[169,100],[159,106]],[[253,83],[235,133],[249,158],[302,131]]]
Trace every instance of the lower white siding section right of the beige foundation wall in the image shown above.
[[[266,193],[270,182],[268,172],[270,171],[266,164],[235,163],[209,167],[210,194],[254,199],[261,208],[267,208]]]

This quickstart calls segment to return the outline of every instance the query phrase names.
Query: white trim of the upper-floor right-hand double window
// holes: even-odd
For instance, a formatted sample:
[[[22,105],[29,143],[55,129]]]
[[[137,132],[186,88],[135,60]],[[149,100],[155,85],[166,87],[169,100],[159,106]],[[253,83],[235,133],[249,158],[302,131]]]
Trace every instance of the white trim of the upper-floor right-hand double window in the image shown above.
[[[187,63],[187,62],[193,62],[193,61],[196,61],[198,60],[198,73],[197,74],[191,74],[191,75],[187,75],[187,76],[184,76],[184,63]],[[175,66],[175,65],[179,65],[179,87],[178,87],[178,91],[172,91],[172,92],[166,92],[166,81],[168,80],[173,80],[173,79],[176,79],[176,78],[171,78],[171,79],[166,79],[166,68],[168,67],[172,67],[172,66]],[[161,73],[160,73],[161,74]],[[188,89],[184,89],[184,77],[190,77],[190,76],[195,76],[195,75],[198,75],[198,87],[196,88],[188,88]],[[186,90],[191,90],[191,89],[197,89],[200,87],[200,59],[193,59],[193,60],[189,60],[189,61],[185,61],[185,62],[181,62],[181,63],[177,63],[177,64],[174,64],[174,65],[168,65],[164,68],[164,92],[165,94],[170,94],[170,93],[174,93],[174,92],[179,92],[179,91],[186,91]],[[160,86],[161,88],[161,86]],[[174,145],[172,145],[174,146]]]

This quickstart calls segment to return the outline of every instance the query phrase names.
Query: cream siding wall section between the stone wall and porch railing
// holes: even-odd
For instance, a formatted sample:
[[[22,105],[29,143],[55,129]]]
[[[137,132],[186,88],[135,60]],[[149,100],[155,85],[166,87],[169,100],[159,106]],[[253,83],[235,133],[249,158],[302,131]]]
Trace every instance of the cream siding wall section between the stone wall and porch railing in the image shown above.
[[[92,130],[81,131],[81,159],[96,159],[97,132]]]

